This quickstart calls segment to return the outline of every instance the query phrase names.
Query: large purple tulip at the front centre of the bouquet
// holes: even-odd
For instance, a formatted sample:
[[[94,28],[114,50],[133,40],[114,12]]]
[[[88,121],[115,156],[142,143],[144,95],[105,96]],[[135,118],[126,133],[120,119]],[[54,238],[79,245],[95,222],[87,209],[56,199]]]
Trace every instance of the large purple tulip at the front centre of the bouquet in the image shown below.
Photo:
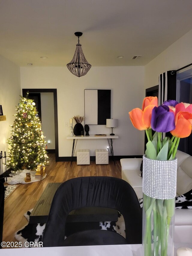
[[[169,111],[168,106],[161,105],[153,108],[151,127],[152,130],[158,132],[168,132],[175,129],[174,114]]]

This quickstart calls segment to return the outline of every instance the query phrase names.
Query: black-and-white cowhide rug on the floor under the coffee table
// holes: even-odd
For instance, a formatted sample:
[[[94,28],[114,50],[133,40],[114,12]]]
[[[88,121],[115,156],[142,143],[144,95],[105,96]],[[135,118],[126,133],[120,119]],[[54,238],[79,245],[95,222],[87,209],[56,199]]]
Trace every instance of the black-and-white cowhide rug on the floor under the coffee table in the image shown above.
[[[33,209],[24,214],[28,222],[32,210]],[[22,242],[22,245],[24,245],[24,242],[40,242],[42,240],[44,228],[45,224],[28,223],[15,233],[15,238],[17,241]],[[118,213],[118,221],[100,222],[100,228],[114,231],[125,237],[125,222],[123,216],[120,213]]]

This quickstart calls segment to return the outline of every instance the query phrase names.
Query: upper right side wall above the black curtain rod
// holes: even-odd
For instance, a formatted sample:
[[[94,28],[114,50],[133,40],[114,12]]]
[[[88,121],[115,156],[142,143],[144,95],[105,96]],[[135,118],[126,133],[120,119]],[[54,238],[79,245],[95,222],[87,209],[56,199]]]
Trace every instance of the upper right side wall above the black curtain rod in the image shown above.
[[[179,38],[145,66],[145,88],[159,84],[159,74],[192,62],[192,30]],[[190,67],[191,68],[191,67]]]

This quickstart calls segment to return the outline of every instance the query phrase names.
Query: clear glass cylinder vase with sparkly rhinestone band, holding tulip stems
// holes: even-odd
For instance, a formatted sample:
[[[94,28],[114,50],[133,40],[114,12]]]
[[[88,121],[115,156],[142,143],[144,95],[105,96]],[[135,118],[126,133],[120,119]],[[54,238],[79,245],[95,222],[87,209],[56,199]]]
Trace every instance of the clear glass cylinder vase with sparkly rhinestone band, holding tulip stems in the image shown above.
[[[143,255],[172,256],[175,221],[177,158],[143,156]]]

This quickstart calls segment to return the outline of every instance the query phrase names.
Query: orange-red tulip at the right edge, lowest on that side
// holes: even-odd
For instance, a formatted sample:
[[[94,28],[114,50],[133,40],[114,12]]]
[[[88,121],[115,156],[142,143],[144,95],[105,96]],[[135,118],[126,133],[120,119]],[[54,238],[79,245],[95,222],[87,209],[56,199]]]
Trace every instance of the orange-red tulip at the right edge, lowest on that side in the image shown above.
[[[178,138],[185,138],[191,134],[192,113],[180,111],[175,116],[175,130],[171,134]]]

